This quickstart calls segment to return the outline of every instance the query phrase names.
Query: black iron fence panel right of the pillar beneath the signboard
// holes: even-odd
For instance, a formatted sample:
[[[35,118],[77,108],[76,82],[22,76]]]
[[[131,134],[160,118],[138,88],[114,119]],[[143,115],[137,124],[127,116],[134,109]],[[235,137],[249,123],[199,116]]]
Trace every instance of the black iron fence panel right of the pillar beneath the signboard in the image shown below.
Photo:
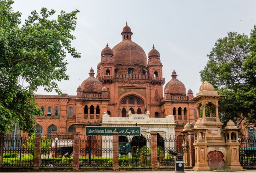
[[[119,167],[151,166],[150,136],[119,136]]]

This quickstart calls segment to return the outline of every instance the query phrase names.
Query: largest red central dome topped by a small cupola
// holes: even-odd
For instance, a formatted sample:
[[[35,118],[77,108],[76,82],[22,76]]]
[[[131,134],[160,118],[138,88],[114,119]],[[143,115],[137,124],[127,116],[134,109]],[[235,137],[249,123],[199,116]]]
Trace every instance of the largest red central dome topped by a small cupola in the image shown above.
[[[132,42],[132,31],[127,26],[127,23],[121,35],[123,38],[122,42],[112,49],[114,52],[114,64],[136,64],[146,67],[147,56],[138,44]]]

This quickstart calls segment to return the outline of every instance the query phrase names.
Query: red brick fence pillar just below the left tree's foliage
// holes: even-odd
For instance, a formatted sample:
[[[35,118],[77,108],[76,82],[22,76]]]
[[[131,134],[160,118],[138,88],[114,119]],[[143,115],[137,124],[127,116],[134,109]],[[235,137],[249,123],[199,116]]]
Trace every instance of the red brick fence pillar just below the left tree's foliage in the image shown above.
[[[42,133],[36,133],[34,148],[34,170],[39,170],[41,162]]]

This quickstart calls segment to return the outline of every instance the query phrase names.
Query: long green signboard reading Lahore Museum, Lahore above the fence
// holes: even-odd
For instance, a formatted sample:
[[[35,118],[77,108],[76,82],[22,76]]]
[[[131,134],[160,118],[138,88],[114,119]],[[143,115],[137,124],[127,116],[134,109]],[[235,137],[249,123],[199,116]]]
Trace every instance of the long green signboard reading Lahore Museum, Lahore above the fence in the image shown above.
[[[104,136],[112,135],[113,132],[118,132],[119,135],[132,135],[140,136],[140,127],[99,127],[99,126],[87,126],[86,136]]]

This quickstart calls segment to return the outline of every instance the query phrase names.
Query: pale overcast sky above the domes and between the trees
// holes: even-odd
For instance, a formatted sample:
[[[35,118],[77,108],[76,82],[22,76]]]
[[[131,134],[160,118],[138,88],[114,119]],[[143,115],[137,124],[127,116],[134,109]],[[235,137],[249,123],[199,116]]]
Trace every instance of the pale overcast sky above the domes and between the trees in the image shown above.
[[[200,70],[208,61],[207,54],[219,38],[228,32],[250,35],[256,25],[256,0],[16,0],[14,11],[22,13],[24,21],[32,10],[42,7],[56,10],[80,10],[77,15],[76,40],[72,46],[81,58],[66,56],[68,81],[58,82],[62,93],[76,95],[76,89],[94,72],[100,53],[108,43],[110,48],[122,41],[122,28],[130,26],[132,41],[146,55],[154,44],[160,52],[163,78],[170,81],[172,71],[194,96],[202,84]],[[42,87],[36,94],[47,93]]]

